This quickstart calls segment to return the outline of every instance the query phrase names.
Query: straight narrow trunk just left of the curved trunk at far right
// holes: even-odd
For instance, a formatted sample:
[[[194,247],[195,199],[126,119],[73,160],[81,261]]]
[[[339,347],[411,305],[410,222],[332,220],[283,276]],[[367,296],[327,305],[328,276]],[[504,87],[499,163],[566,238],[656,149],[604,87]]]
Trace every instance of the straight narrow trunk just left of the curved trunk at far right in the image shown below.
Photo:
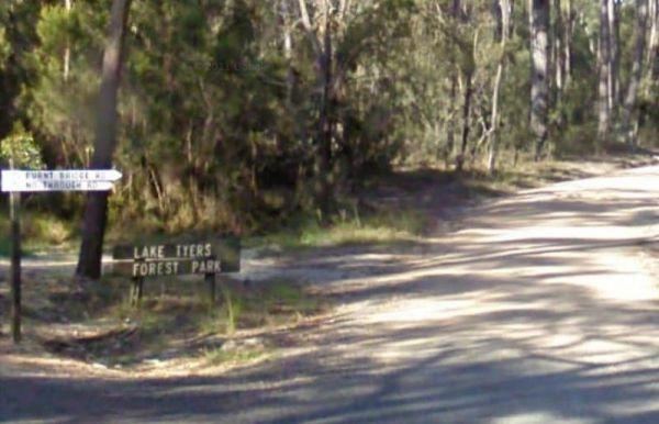
[[[608,36],[608,0],[600,5],[600,47],[597,85],[597,137],[600,142],[608,138],[611,130],[611,47]]]

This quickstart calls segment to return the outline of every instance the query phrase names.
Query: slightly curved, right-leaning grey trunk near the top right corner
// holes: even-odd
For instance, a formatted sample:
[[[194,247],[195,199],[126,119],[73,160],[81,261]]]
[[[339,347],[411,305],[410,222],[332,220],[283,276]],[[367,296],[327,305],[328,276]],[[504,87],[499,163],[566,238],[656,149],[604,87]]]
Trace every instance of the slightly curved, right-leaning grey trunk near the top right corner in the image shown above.
[[[645,42],[648,22],[648,0],[636,0],[636,46],[634,48],[634,63],[632,65],[632,74],[629,83],[627,85],[627,93],[623,104],[621,135],[623,141],[629,144],[629,147],[636,147],[636,138],[632,131],[632,114],[636,109],[636,99],[638,96],[638,87],[643,76],[643,60],[645,56]]]

